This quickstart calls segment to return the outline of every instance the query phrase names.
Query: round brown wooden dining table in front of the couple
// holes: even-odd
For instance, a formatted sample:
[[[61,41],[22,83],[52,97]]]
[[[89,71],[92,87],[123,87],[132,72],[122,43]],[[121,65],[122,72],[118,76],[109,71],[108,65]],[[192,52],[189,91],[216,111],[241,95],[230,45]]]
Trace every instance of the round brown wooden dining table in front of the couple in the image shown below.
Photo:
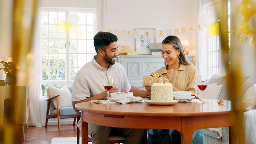
[[[249,104],[237,102],[242,112],[251,109]],[[224,104],[217,100],[208,103],[178,102],[171,106],[151,106],[147,103],[97,104],[82,102],[76,104],[82,111],[82,143],[88,142],[88,123],[109,127],[136,129],[175,129],[181,134],[182,143],[191,143],[192,135],[198,129],[227,127],[233,125],[231,101]]]

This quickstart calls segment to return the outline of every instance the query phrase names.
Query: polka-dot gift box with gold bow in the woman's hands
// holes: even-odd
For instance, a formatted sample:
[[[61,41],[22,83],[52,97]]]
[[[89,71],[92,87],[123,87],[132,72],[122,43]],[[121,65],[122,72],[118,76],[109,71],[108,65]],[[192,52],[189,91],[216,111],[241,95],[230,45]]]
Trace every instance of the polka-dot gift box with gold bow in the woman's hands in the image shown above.
[[[145,86],[152,86],[154,83],[165,83],[163,77],[159,76],[159,74],[152,73],[149,76],[143,76],[142,84]]]

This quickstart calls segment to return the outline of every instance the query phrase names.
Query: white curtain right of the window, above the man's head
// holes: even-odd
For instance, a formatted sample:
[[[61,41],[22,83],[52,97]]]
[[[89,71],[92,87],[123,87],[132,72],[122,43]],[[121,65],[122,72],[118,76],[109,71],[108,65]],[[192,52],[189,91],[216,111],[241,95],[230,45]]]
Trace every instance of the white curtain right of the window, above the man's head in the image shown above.
[[[97,0],[97,32],[108,31],[108,7],[107,0]]]

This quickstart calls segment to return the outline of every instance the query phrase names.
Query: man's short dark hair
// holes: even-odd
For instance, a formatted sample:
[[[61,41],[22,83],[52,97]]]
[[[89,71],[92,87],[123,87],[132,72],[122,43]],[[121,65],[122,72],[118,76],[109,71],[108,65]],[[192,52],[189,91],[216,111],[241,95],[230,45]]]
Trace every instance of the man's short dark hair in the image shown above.
[[[99,50],[103,50],[104,52],[106,52],[108,45],[110,45],[113,42],[116,42],[117,40],[117,36],[110,32],[98,32],[93,37],[93,44],[95,47],[95,51],[97,52],[97,55],[99,53]]]

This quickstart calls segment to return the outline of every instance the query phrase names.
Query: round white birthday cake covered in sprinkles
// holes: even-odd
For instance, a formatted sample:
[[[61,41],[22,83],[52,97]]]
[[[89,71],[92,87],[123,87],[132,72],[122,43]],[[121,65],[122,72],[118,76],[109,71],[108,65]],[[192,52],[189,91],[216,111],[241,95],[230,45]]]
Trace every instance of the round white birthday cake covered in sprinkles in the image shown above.
[[[151,87],[151,101],[154,102],[171,102],[172,83],[154,83]]]

